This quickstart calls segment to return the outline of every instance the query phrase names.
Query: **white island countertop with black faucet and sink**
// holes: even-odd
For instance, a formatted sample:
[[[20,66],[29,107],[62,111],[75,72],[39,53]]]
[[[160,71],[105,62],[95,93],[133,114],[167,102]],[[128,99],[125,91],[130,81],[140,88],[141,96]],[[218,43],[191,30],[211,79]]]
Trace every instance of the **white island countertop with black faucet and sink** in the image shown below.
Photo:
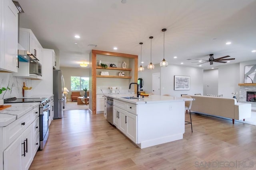
[[[181,98],[176,96],[160,96],[160,95],[149,95],[140,99],[125,99],[122,97],[137,97],[136,94],[105,94],[107,97],[111,97],[114,99],[122,100],[124,102],[129,102],[132,104],[150,104],[150,103],[164,103],[164,102],[180,102],[180,101],[190,101],[194,99],[190,98]]]

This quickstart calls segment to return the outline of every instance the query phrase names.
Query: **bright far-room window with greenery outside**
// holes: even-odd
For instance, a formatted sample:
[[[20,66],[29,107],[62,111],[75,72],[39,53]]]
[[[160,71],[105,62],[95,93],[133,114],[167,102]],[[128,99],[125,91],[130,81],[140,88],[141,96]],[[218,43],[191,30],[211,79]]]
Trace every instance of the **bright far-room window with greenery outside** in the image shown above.
[[[71,91],[89,90],[89,77],[71,76]]]

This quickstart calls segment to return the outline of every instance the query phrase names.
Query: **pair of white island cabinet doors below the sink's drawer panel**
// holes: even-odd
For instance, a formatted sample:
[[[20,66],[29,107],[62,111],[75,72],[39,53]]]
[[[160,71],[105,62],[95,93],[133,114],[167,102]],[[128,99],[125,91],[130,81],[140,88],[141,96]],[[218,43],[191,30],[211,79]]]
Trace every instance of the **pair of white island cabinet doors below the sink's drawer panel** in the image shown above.
[[[118,128],[134,143],[137,143],[137,115],[114,106],[113,118],[113,124],[116,128]]]

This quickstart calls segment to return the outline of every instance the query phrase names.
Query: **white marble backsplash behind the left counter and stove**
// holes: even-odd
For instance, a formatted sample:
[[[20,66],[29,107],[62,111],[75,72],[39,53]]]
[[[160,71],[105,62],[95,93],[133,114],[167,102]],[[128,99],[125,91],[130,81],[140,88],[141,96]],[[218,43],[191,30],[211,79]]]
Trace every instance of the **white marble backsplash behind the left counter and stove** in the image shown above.
[[[16,77],[16,76],[13,76],[12,73],[0,72],[0,88],[2,87],[10,88],[10,90],[5,90],[2,92],[2,94],[0,94],[0,99],[22,97],[23,82],[26,83],[27,87],[31,87],[31,84],[32,84],[31,79]]]

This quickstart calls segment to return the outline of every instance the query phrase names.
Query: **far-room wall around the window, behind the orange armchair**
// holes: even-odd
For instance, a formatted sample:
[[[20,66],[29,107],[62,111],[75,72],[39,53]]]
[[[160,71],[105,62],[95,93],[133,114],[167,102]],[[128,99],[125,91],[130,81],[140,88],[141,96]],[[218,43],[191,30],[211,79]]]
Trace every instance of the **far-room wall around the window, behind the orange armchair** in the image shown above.
[[[62,70],[62,75],[64,78],[65,85],[69,92],[67,94],[67,99],[71,100],[71,76],[89,77],[89,67],[86,68],[71,68],[71,67],[60,67]],[[84,91],[80,91],[80,94],[84,94]]]

